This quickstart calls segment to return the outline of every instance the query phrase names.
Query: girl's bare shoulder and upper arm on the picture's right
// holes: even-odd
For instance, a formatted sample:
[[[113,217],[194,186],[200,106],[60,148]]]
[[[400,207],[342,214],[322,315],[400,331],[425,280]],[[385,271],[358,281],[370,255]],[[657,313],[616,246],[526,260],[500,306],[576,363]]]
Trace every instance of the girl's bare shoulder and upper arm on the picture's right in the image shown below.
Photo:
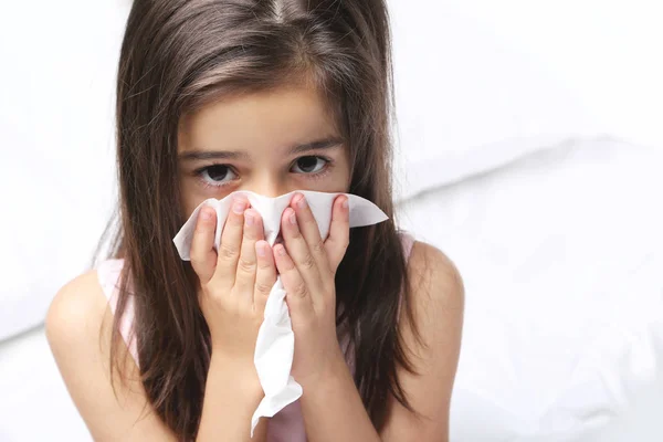
[[[415,413],[391,398],[381,435],[388,442],[445,442],[461,350],[463,280],[444,253],[422,242],[412,248],[408,276],[412,316],[403,309],[399,326],[412,370],[399,367],[398,379]]]

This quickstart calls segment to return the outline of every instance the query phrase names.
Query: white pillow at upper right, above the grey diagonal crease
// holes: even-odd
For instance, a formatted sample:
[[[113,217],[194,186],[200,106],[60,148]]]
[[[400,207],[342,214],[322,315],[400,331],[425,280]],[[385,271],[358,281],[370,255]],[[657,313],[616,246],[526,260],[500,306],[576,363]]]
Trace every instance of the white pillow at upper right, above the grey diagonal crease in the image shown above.
[[[663,62],[651,56],[663,41],[656,2],[389,7],[401,198],[486,170],[484,157],[509,159],[569,137],[663,145]]]

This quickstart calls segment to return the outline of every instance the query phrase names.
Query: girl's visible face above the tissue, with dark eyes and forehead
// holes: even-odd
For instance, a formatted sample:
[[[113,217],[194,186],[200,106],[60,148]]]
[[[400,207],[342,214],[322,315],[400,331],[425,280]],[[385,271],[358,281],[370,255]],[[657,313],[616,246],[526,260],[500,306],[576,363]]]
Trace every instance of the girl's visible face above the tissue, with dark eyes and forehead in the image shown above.
[[[350,169],[327,106],[314,91],[230,97],[180,122],[180,191],[187,217],[235,190],[347,192]]]

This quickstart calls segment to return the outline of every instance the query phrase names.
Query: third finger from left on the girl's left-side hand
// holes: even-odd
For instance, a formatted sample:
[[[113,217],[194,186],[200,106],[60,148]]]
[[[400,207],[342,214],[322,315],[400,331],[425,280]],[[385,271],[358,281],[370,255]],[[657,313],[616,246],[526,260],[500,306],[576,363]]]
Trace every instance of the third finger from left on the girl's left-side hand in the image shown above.
[[[250,302],[253,302],[253,288],[255,286],[255,243],[262,239],[263,228],[260,214],[255,209],[244,211],[243,238],[234,285],[238,293]]]

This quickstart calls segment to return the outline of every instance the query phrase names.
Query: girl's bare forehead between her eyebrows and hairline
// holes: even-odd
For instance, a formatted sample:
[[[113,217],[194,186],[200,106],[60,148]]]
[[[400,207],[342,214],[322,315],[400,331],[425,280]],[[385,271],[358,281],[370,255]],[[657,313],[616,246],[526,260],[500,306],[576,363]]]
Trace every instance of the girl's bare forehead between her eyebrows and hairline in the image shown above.
[[[309,87],[232,95],[180,122],[178,150],[252,151],[338,136],[327,103]]]

